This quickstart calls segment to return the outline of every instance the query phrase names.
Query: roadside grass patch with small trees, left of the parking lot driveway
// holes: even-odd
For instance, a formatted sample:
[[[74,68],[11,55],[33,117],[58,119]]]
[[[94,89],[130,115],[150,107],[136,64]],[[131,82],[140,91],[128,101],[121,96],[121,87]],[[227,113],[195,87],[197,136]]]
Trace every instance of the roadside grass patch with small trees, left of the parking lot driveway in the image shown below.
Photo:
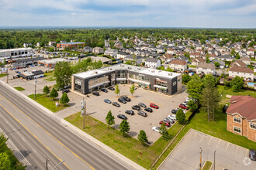
[[[29,98],[34,100],[34,94],[30,94]],[[43,107],[47,107],[47,109],[51,110],[52,112],[57,112],[58,110],[62,110],[65,107],[69,107],[67,104],[65,106],[63,106],[63,104],[61,104],[61,106],[57,107],[55,105],[55,102],[58,100],[52,100],[52,98],[50,98],[50,97],[45,97],[45,95],[42,93],[36,94],[35,101],[37,103],[43,105]]]

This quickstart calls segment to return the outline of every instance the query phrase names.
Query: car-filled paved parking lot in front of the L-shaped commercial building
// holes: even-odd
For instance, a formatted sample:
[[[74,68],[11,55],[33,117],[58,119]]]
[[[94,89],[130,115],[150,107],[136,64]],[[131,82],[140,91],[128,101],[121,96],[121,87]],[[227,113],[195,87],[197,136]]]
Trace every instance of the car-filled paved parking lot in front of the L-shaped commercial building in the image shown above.
[[[99,121],[106,122],[105,118],[109,110],[112,111],[112,114],[115,116],[115,128],[119,128],[121,119],[117,118],[118,114],[125,114],[126,110],[132,110],[133,105],[137,105],[140,102],[144,103],[149,107],[150,103],[157,104],[159,109],[153,109],[153,113],[147,112],[147,117],[142,117],[137,114],[137,110],[134,110],[135,115],[128,115],[128,122],[130,123],[130,136],[137,137],[137,134],[140,133],[140,130],[144,130],[147,134],[148,140],[150,143],[154,142],[161,136],[161,134],[152,131],[154,126],[160,126],[159,121],[162,121],[164,117],[168,117],[168,114],[171,114],[171,110],[178,107],[178,105],[185,101],[187,93],[184,91],[182,93],[175,94],[174,96],[168,96],[161,93],[156,93],[149,90],[144,90],[138,88],[135,90],[133,97],[130,94],[130,85],[119,85],[120,95],[126,95],[131,98],[130,102],[126,104],[120,104],[120,107],[115,107],[112,104],[107,104],[103,100],[109,99],[112,102],[118,100],[116,93],[112,90],[108,90],[108,93],[99,92],[100,96],[90,95],[90,97],[85,97],[87,114],[92,117],[95,117]],[[81,99],[82,97],[75,93],[67,93],[70,97],[72,107],[65,110],[57,112],[61,117],[67,117],[72,112],[81,110]],[[74,105],[75,104],[75,105]],[[146,111],[145,111],[146,112]],[[64,116],[63,116],[64,115]]]

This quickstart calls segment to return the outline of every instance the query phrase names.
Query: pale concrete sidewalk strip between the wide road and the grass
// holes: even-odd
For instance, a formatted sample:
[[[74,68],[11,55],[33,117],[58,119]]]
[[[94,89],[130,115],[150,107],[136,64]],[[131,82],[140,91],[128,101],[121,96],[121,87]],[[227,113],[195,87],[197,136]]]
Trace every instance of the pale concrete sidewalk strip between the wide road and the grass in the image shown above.
[[[89,141],[92,141],[95,145],[98,145],[100,148],[104,148],[107,152],[109,152],[112,155],[115,155],[117,158],[123,160],[123,162],[126,162],[127,164],[129,164],[130,166],[132,166],[133,168],[136,169],[145,169],[142,166],[138,165],[137,163],[133,162],[132,160],[130,160],[129,158],[126,158],[124,155],[120,154],[119,152],[113,150],[112,148],[110,148],[109,146],[103,144],[101,141],[93,138],[91,135],[85,133],[85,131],[81,131],[81,129],[75,127],[73,124],[65,121],[64,119],[62,119],[61,117],[57,116],[56,114],[54,114],[52,111],[48,110],[46,107],[43,107],[41,104],[38,104],[35,100],[30,99],[29,97],[27,97],[25,94],[19,92],[18,90],[14,89],[13,87],[10,87],[7,83],[3,82],[2,80],[0,80],[0,84],[2,84],[3,86],[9,88],[9,90],[14,91],[15,93],[17,93],[17,95],[22,96],[25,100],[29,101],[30,103],[35,104],[37,107],[39,107],[41,110],[45,111],[47,114],[49,114],[51,117],[54,117],[54,119],[59,122],[61,125],[64,126],[64,128],[67,128],[68,130],[70,130],[72,133],[78,135],[78,137],[82,138],[83,140],[88,139]],[[88,142],[89,144],[91,144],[90,142]],[[92,144],[91,144],[92,145]],[[92,145],[93,146],[93,145]],[[94,146],[95,147],[95,146]],[[99,150],[99,148],[97,148]],[[102,151],[102,153],[104,153]]]

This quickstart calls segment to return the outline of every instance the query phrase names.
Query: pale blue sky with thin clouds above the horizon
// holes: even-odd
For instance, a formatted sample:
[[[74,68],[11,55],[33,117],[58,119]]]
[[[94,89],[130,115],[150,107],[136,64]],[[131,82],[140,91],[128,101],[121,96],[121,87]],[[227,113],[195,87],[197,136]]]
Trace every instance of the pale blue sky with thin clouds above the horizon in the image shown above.
[[[256,28],[256,0],[0,0],[0,23]]]

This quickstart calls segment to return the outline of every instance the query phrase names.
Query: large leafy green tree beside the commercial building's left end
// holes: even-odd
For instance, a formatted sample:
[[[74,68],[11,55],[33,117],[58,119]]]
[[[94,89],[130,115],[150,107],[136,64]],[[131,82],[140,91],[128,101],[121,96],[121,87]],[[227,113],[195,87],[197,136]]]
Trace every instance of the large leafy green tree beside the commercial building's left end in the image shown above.
[[[72,76],[71,64],[67,62],[56,63],[54,77],[56,77],[57,87],[64,88],[71,83]]]

